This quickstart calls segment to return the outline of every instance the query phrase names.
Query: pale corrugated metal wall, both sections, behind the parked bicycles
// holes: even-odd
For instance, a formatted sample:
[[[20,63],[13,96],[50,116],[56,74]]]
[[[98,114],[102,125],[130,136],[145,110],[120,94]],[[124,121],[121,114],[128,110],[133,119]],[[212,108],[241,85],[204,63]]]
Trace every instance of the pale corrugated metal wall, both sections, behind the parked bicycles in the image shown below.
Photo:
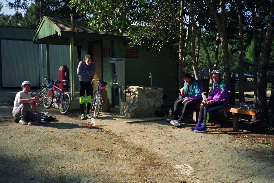
[[[44,48],[44,65],[46,63]],[[50,79],[59,79],[59,66],[70,66],[69,46],[49,45]],[[32,41],[1,40],[2,87],[20,87],[28,80],[33,86],[41,84],[41,46]],[[70,69],[70,68],[69,68]]]

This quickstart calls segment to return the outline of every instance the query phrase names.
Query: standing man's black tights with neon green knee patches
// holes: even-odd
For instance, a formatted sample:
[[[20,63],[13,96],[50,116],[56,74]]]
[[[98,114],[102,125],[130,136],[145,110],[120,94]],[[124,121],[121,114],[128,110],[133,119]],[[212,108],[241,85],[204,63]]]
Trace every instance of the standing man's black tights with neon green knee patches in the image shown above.
[[[87,92],[87,114],[91,108],[92,83],[91,81],[79,81],[80,110],[84,112],[85,91]]]

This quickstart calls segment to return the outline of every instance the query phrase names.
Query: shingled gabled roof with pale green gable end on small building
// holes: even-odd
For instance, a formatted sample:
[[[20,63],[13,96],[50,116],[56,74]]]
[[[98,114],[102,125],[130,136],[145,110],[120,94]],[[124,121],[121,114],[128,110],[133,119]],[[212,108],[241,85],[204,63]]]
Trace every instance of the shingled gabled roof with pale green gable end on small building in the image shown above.
[[[69,38],[75,38],[75,44],[81,44],[83,39],[98,40],[98,39],[112,39],[124,40],[129,36],[124,33],[123,36],[112,35],[108,32],[94,30],[88,26],[90,20],[73,19],[73,26],[71,26],[71,17],[64,18],[58,16],[44,15],[40,21],[35,34],[33,36],[34,43],[69,45]]]

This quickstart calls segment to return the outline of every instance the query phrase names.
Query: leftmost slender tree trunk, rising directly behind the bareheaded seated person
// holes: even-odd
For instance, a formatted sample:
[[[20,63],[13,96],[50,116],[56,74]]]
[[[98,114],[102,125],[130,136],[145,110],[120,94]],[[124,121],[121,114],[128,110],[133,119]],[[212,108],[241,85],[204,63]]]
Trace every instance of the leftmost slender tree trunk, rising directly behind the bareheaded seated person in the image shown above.
[[[181,10],[180,15],[182,16],[183,12],[183,0],[181,0]],[[183,17],[180,17],[180,41],[179,41],[179,69],[178,69],[178,77],[179,77],[179,88],[183,88],[183,68],[184,68],[184,59],[183,59]]]

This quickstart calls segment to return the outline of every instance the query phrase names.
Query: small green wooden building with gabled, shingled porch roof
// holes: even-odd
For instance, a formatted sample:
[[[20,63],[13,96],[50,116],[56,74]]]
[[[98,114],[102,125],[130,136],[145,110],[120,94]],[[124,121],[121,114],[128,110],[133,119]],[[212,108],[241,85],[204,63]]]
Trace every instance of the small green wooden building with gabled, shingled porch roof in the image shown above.
[[[88,26],[89,20],[55,16],[43,16],[33,36],[33,43],[46,45],[46,75],[50,76],[49,45],[69,45],[69,77],[71,92],[78,88],[77,66],[87,54],[92,55],[96,66],[95,79],[106,82],[108,98],[112,104],[119,105],[119,91],[111,81],[110,58],[125,59],[125,86],[144,86],[163,88],[164,102],[178,97],[178,61],[169,59],[169,55],[154,56],[145,49],[133,49],[126,44],[128,34],[111,35],[96,31]],[[78,61],[77,61],[78,58]],[[173,57],[174,58],[174,57]],[[149,74],[151,73],[151,75]],[[96,87],[96,84],[94,84]]]

